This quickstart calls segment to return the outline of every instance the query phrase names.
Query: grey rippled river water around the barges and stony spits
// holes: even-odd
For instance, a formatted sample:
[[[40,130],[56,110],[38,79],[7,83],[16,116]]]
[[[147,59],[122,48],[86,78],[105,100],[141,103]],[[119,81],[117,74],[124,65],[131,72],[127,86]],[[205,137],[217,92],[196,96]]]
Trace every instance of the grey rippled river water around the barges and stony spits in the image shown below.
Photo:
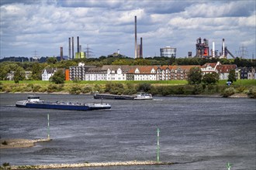
[[[103,100],[111,110],[70,111],[15,107],[27,94],[1,93],[1,138],[47,138],[33,148],[2,149],[0,163],[126,162],[175,165],[78,169],[256,169],[256,100],[222,97],[154,97]],[[100,102],[92,95],[40,94],[42,100]]]

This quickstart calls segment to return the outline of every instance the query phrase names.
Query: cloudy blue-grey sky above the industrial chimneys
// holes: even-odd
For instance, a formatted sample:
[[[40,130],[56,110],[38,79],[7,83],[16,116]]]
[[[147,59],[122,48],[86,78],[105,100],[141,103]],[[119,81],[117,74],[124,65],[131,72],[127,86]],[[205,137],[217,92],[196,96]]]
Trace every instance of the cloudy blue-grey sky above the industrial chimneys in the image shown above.
[[[0,0],[1,54],[8,56],[68,55],[68,38],[80,37],[94,56],[107,56],[119,49],[134,57],[134,16],[137,38],[143,37],[144,57],[160,56],[160,48],[177,48],[177,57],[195,55],[196,39],[222,39],[235,56],[244,46],[254,54],[256,1],[178,0]],[[230,58],[230,57],[229,57]]]

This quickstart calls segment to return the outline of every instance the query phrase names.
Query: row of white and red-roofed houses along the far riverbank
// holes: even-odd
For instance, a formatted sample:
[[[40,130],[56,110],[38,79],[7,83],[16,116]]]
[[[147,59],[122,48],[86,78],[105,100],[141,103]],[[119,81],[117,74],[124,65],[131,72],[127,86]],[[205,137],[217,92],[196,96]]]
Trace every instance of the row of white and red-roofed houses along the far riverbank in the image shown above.
[[[86,66],[79,63],[65,70],[66,80],[187,80],[189,70],[199,67],[202,74],[216,72],[220,80],[227,80],[230,70],[236,70],[237,79],[242,77],[242,71],[237,65],[222,65],[221,63],[206,63],[203,66],[128,66],[104,65]],[[44,72],[45,73],[45,72]],[[246,79],[256,79],[255,69],[251,68]],[[45,77],[45,75],[42,77]],[[243,76],[244,77],[244,76]],[[245,78],[242,78],[245,79]]]

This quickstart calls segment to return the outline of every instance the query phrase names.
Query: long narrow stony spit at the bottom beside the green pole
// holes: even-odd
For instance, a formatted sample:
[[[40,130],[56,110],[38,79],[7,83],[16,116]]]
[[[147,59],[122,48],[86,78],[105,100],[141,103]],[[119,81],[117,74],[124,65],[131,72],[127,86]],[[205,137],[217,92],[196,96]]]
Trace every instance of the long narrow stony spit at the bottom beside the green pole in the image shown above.
[[[85,168],[85,167],[109,167],[109,166],[134,166],[134,165],[174,165],[172,162],[153,162],[153,161],[130,161],[130,162],[95,162],[78,164],[50,164],[50,165],[16,165],[10,166],[11,169],[49,169],[49,168]]]

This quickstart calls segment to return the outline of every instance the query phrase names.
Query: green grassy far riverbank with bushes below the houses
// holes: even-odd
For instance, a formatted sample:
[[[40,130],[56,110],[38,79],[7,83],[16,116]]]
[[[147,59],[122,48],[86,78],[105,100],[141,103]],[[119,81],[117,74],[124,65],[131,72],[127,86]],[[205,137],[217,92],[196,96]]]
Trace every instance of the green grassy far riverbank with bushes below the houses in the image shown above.
[[[186,80],[168,81],[65,81],[54,84],[49,81],[24,80],[19,83],[0,81],[0,92],[3,93],[112,93],[133,94],[139,91],[153,95],[214,95],[229,97],[233,94],[248,94],[256,97],[256,80],[237,80],[230,87],[226,80],[217,84],[189,85]]]

